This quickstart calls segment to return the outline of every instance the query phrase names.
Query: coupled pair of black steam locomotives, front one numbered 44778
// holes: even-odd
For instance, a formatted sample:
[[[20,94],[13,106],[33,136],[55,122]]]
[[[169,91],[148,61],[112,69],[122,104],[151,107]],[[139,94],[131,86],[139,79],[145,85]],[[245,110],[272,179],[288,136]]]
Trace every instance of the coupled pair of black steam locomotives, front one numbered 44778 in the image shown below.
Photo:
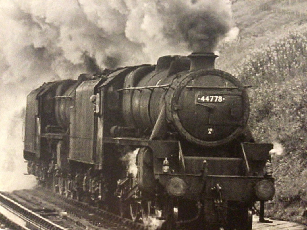
[[[255,202],[275,192],[272,144],[255,143],[247,86],[215,69],[216,57],[163,56],[44,83],[27,97],[29,174],[167,230],[252,229]]]

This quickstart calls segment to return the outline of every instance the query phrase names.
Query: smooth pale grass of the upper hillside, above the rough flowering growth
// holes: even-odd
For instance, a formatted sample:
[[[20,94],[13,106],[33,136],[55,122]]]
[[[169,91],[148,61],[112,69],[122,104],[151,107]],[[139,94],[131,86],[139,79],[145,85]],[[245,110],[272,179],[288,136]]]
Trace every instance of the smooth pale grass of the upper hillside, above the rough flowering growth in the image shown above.
[[[243,63],[255,48],[274,44],[307,24],[306,0],[232,1],[233,19],[239,29],[235,40],[222,42],[217,67],[230,71]]]

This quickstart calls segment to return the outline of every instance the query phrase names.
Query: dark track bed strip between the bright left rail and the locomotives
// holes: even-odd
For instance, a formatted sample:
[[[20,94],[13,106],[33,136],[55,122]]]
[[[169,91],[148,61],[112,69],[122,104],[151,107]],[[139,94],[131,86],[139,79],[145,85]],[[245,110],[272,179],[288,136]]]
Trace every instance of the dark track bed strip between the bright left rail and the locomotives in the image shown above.
[[[3,195],[3,194],[2,194]],[[135,223],[132,220],[121,218],[114,213],[95,208],[83,202],[54,194],[49,190],[37,187],[35,190],[19,190],[13,193],[5,193],[7,197],[24,206],[33,212],[39,212],[46,218],[61,221],[64,217],[70,221],[70,226],[65,229],[89,229],[89,230],[146,230],[147,226]],[[52,211],[52,212],[51,212]],[[51,214],[50,214],[51,212]],[[64,213],[61,215],[61,213]],[[53,221],[51,219],[51,221]],[[62,225],[59,223],[59,225]]]

